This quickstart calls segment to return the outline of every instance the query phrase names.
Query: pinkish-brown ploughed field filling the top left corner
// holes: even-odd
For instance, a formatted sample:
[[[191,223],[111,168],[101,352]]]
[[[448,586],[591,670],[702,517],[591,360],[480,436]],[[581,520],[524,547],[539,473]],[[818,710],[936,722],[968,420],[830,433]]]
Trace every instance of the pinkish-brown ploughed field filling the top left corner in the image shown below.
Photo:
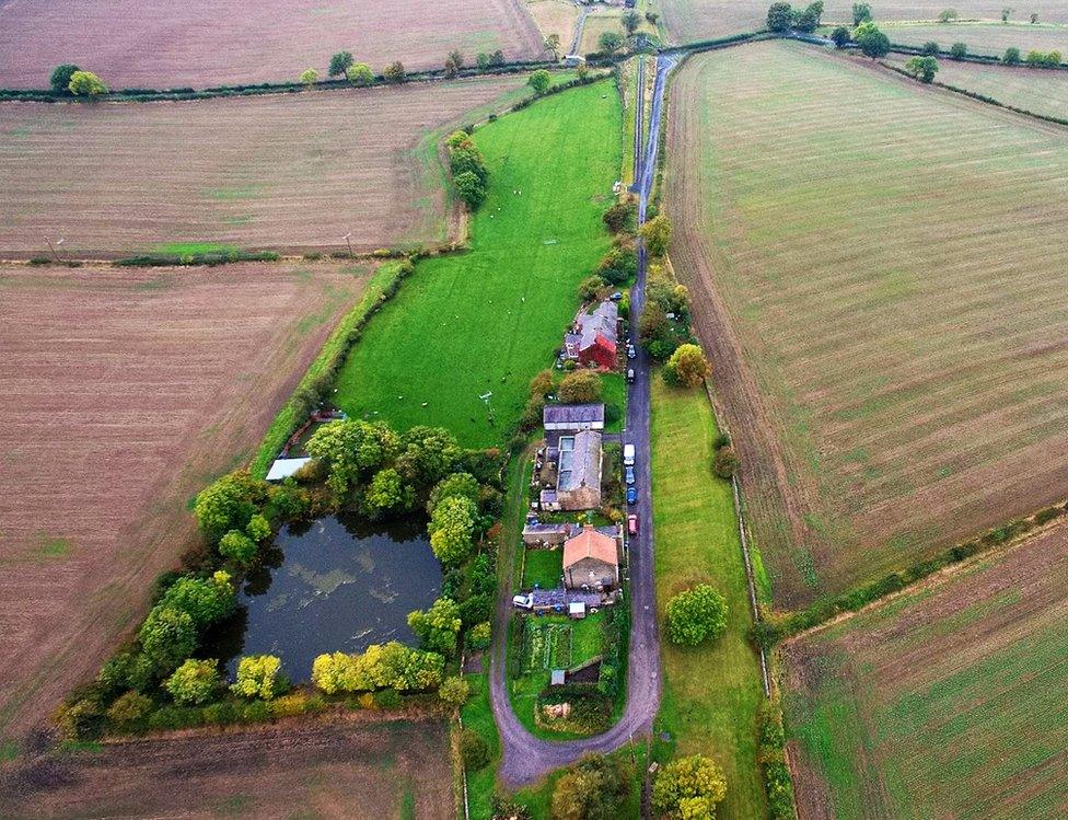
[[[438,68],[460,49],[510,60],[543,56],[522,0],[4,0],[0,86],[48,88],[73,62],[114,89],[207,88],[325,77],[330,55],[351,51],[375,72],[394,60]]]

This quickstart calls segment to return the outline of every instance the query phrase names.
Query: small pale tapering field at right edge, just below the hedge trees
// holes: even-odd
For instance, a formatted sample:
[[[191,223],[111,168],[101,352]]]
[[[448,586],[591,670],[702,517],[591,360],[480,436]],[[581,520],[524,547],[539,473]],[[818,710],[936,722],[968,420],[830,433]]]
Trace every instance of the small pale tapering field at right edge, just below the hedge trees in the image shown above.
[[[903,68],[907,58],[889,60]],[[936,82],[997,100],[1044,117],[1068,119],[1068,72],[940,60]]]

